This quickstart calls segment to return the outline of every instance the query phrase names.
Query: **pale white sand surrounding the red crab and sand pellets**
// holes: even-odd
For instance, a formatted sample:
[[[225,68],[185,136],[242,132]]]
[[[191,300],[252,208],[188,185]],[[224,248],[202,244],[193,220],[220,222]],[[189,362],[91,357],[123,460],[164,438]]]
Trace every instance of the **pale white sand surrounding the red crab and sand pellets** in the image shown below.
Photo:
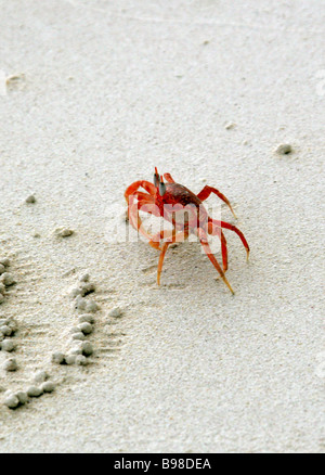
[[[44,369],[60,383],[0,406],[0,451],[324,451],[324,2],[0,10],[1,77],[17,75],[0,89],[0,255],[18,282],[0,316],[20,325],[0,386]],[[226,232],[234,297],[195,243],[169,251],[158,288],[154,249],[107,242],[125,188],[155,165],[234,204],[251,247],[246,265]],[[96,355],[55,367],[87,269]]]

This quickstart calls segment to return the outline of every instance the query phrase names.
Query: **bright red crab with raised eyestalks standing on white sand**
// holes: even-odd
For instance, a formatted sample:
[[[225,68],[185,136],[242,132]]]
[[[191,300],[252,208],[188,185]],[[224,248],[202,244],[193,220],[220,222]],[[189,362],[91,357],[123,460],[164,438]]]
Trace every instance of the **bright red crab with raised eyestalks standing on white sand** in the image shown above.
[[[134,181],[125,192],[131,224],[148,240],[151,246],[160,251],[157,272],[158,285],[160,284],[160,273],[168,246],[172,243],[186,240],[192,233],[198,238],[205,253],[218,270],[221,279],[227,285],[232,294],[234,294],[234,291],[224,275],[227,269],[227,248],[222,229],[230,229],[240,238],[247,252],[247,259],[249,256],[248,243],[242,231],[235,226],[210,218],[203,205],[203,202],[207,200],[211,193],[214,193],[220,200],[227,204],[232,214],[235,216],[229,200],[216,188],[206,185],[196,195],[183,184],[176,183],[170,174],[164,174],[164,177],[166,183],[164,182],[162,176],[159,175],[157,168],[155,168],[154,183],[145,180]],[[139,191],[140,188],[143,188],[146,193]],[[159,231],[155,235],[150,234],[142,224],[139,210],[167,219],[173,224],[173,229]],[[177,214],[182,210],[185,211],[185,214],[183,214],[185,218],[180,222],[177,219]],[[218,235],[221,241],[222,269],[210,249],[208,234]],[[162,242],[161,246],[160,242]]]

